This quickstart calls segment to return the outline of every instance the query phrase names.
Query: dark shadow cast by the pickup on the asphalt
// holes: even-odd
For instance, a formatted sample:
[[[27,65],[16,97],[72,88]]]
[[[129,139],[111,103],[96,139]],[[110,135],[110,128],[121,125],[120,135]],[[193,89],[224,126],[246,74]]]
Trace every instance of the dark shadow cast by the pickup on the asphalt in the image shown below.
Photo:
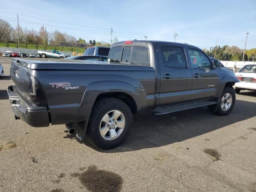
[[[90,144],[88,138],[85,139],[84,144],[103,153],[120,153],[165,146],[252,118],[256,116],[255,109],[256,102],[236,100],[234,109],[228,116],[213,114],[206,107],[160,116],[145,112],[133,116],[131,132],[123,144],[117,148],[101,150]],[[75,135],[66,138],[75,138]]]

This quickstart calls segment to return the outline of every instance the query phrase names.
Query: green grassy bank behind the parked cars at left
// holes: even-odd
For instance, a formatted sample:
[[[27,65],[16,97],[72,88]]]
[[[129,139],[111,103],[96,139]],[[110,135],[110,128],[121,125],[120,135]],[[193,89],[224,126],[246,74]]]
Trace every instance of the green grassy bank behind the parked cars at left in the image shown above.
[[[0,47],[6,47],[5,43],[4,42],[0,42]],[[16,47],[16,43],[9,43],[9,47],[8,48],[17,48]],[[26,49],[25,44],[20,44],[20,48]],[[28,49],[36,49],[36,47],[33,44],[28,44]],[[42,45],[39,45],[38,49],[44,50]],[[75,47],[74,49],[75,49],[75,52],[77,52],[77,53],[83,53],[84,52],[84,48]],[[54,50],[54,46],[47,46],[47,50]],[[58,46],[57,50],[58,51],[62,51],[62,47]],[[63,51],[71,52],[70,51],[70,47],[64,47]]]

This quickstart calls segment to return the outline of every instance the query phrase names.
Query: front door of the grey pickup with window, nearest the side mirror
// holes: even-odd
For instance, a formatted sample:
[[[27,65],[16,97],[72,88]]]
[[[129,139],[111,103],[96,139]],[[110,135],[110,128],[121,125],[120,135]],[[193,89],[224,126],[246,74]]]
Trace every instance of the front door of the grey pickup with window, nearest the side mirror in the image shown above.
[[[196,48],[187,49],[193,83],[190,100],[214,98],[218,88],[218,70],[213,69],[210,59]]]

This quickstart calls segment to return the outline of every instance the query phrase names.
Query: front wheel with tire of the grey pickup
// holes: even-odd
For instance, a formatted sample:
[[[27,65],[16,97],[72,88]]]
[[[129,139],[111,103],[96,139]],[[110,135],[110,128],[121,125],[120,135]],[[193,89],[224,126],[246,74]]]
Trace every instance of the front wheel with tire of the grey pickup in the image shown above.
[[[218,104],[219,106],[216,114],[220,116],[228,115],[234,108],[235,102],[236,102],[236,94],[234,92],[234,89],[230,87],[225,87],[222,92],[220,103]]]

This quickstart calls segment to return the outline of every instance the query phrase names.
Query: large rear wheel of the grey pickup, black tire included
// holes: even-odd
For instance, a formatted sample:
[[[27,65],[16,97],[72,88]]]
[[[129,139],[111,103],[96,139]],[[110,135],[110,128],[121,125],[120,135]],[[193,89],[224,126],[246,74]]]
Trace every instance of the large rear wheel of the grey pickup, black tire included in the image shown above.
[[[116,117],[119,115],[119,113],[120,116],[118,116],[118,118],[115,120],[113,118],[114,112],[112,113],[111,111],[116,113]],[[104,117],[106,117],[106,120],[104,120]],[[108,121],[108,119],[110,119],[110,121]],[[106,123],[107,121],[108,123]],[[122,129],[116,126],[116,124],[121,125],[121,121],[124,121],[124,123],[122,123]],[[116,98],[103,98],[96,102],[92,109],[88,124],[88,135],[90,142],[101,149],[115,148],[119,146],[128,136],[131,123],[132,112],[126,103]],[[102,130],[105,130],[106,134],[102,133]],[[113,134],[111,134],[112,132]],[[116,136],[114,136],[114,132],[116,132]]]

